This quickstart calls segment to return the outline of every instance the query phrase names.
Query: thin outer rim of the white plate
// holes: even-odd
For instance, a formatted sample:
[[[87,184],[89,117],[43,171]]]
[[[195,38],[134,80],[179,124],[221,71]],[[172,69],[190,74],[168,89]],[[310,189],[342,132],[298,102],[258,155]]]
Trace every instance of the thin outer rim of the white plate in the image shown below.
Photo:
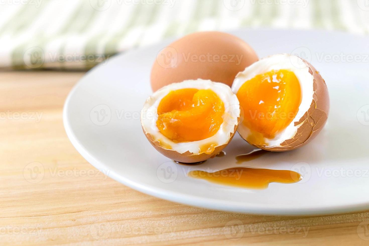
[[[293,31],[293,32],[321,32],[323,30],[291,30],[291,29],[277,29],[277,28],[242,28],[237,30],[231,30],[231,31],[225,31],[228,33],[235,33],[235,32],[244,32],[244,31]],[[327,31],[329,33],[336,33],[336,34],[345,34],[348,36],[359,36],[359,37],[367,37],[366,35],[357,35],[352,34],[348,32],[340,32],[340,31]],[[168,39],[171,40],[171,39]],[[114,57],[110,58],[110,62],[114,63],[115,59],[120,59],[123,56],[127,56],[132,52],[137,52],[138,50],[142,49],[151,49],[154,46],[157,45],[165,45],[168,43],[168,40],[163,40],[157,44],[145,46],[138,49],[132,49],[130,51],[124,52],[124,53],[118,53]],[[347,213],[347,212],[357,212],[362,211],[369,208],[369,201],[368,202],[362,202],[362,203],[347,203],[343,205],[323,205],[318,207],[286,207],[278,208],[273,207],[271,205],[266,204],[257,204],[257,203],[249,203],[249,202],[243,202],[240,204],[239,202],[230,202],[230,201],[222,201],[222,200],[216,200],[212,198],[203,198],[198,197],[196,195],[188,195],[178,192],[169,191],[162,188],[150,188],[144,185],[141,185],[135,181],[132,181],[126,177],[123,177],[119,174],[117,174],[111,167],[107,167],[103,162],[100,162],[97,160],[83,145],[79,142],[76,135],[73,132],[72,126],[70,125],[69,119],[68,119],[68,107],[70,105],[70,100],[75,94],[76,90],[82,85],[84,79],[86,76],[88,76],[93,71],[100,68],[100,66],[103,66],[102,64],[99,64],[83,75],[82,78],[78,80],[78,82],[72,87],[70,90],[68,96],[66,97],[64,106],[63,106],[63,126],[65,128],[65,132],[72,143],[72,145],[75,147],[77,152],[87,160],[92,166],[94,166],[98,170],[106,170],[109,169],[109,173],[106,174],[108,177],[114,179],[115,181],[118,181],[125,186],[128,186],[134,190],[140,191],[141,193],[148,194],[154,197],[158,197],[167,201],[172,202],[179,202],[186,205],[191,205],[195,207],[200,208],[206,208],[206,209],[214,209],[217,211],[227,211],[227,212],[241,212],[241,213],[247,213],[247,214],[258,214],[258,215],[328,215],[328,214],[340,214],[340,213]]]

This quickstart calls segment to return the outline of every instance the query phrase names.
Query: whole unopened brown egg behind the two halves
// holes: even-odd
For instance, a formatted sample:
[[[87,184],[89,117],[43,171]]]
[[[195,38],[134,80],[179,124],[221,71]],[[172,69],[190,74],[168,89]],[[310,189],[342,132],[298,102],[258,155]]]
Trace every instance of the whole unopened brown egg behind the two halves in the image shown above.
[[[257,60],[255,51],[238,37],[223,32],[196,32],[158,53],[151,70],[151,88],[155,92],[190,79],[209,79],[231,86],[237,73]]]

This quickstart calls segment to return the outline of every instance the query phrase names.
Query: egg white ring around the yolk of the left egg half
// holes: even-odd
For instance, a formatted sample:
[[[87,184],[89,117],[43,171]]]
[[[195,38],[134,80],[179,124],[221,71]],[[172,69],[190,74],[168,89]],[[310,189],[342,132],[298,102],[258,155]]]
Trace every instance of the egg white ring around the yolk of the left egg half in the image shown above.
[[[174,142],[169,138],[166,138],[161,134],[156,121],[158,120],[158,105],[163,97],[165,97],[170,91],[194,88],[194,89],[210,89],[217,94],[217,96],[223,101],[224,114],[223,123],[215,135],[210,138],[202,139],[193,142]],[[191,152],[193,154],[200,154],[200,146],[207,143],[217,143],[217,146],[224,145],[230,140],[231,133],[235,131],[235,125],[238,124],[238,118],[240,115],[239,101],[229,86],[223,83],[212,82],[210,80],[185,80],[180,83],[169,84],[156,91],[151,97],[149,97],[144,108],[141,111],[141,124],[146,133],[151,134],[154,140],[160,139],[161,142],[169,145],[173,150],[178,153]],[[214,147],[217,147],[214,146]]]

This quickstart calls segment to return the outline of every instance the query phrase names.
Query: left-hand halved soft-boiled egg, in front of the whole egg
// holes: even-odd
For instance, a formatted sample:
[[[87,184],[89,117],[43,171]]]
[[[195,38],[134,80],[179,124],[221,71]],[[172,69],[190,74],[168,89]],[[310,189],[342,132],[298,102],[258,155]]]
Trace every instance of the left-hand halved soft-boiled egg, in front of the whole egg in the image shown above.
[[[141,111],[146,138],[177,162],[194,163],[221,152],[239,122],[239,102],[229,86],[185,80],[156,91]]]

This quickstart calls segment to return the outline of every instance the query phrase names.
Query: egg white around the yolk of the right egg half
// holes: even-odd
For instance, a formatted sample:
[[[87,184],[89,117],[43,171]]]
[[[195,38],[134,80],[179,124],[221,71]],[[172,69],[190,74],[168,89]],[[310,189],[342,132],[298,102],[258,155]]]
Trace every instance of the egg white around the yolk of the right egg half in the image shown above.
[[[301,86],[302,101],[299,107],[299,112],[293,121],[273,139],[265,138],[266,145],[270,148],[279,147],[287,139],[293,138],[300,125],[294,125],[310,108],[311,101],[313,100],[313,75],[309,73],[309,67],[298,56],[289,54],[277,54],[260,59],[252,65],[246,67],[243,72],[239,72],[236,76],[233,84],[232,91],[237,94],[239,88],[248,80],[254,78],[256,75],[260,75],[271,70],[286,69],[294,72]],[[246,111],[247,109],[243,109]],[[246,112],[245,112],[246,113]],[[241,119],[242,121],[242,119]],[[251,131],[242,122],[239,123],[237,131],[243,138],[248,138]]]

